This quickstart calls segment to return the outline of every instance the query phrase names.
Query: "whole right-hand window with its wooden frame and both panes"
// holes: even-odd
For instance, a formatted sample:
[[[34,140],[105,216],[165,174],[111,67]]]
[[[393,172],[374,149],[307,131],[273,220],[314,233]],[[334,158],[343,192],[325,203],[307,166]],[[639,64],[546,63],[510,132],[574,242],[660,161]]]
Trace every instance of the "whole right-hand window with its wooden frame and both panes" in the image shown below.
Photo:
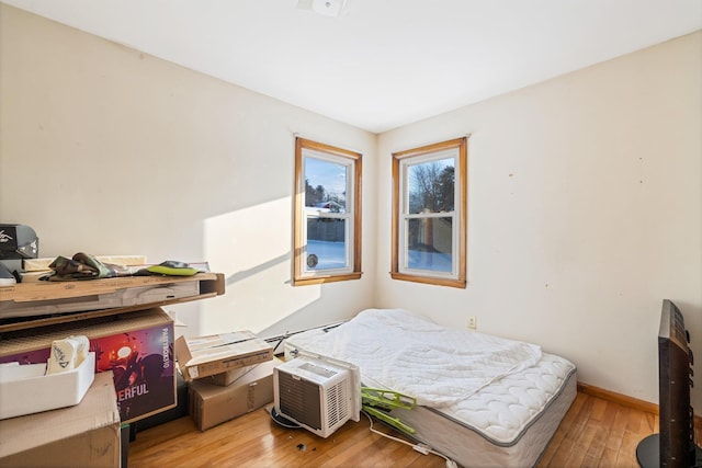
[[[395,279],[465,287],[467,138],[393,153]]]

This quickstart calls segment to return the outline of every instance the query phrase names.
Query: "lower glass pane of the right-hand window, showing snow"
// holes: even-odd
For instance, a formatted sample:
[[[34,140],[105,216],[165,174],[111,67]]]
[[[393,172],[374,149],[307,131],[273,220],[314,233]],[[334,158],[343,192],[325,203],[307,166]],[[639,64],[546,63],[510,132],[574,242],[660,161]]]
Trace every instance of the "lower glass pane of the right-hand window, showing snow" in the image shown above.
[[[453,271],[453,218],[407,220],[407,266],[433,272]]]

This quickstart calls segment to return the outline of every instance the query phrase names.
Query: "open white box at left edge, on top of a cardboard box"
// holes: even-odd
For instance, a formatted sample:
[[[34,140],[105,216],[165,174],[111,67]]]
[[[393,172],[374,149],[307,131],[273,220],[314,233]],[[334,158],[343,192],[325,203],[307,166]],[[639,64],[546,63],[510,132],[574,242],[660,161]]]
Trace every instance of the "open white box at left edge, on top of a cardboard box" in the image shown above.
[[[45,374],[46,363],[0,366],[0,420],[80,403],[95,376],[95,353],[75,369]]]

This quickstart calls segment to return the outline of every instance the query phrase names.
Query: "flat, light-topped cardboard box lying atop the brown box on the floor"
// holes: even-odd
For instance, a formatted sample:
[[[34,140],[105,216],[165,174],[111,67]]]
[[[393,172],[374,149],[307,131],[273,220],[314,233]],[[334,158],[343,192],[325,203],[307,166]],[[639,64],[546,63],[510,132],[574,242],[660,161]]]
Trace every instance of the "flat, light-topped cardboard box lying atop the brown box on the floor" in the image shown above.
[[[238,331],[189,339],[180,336],[176,340],[176,356],[183,378],[191,381],[271,361],[273,347],[250,331]]]

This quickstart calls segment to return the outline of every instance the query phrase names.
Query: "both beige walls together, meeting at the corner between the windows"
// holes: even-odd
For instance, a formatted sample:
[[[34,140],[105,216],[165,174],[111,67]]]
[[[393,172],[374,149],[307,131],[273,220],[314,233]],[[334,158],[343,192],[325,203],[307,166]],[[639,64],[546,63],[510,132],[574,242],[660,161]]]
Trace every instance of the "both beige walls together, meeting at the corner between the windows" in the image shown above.
[[[43,256],[210,261],[227,294],[173,309],[190,332],[476,316],[656,401],[667,297],[702,355],[702,33],[374,136],[3,4],[0,21],[0,220],[34,227]],[[290,286],[296,134],[364,155],[361,281]],[[465,134],[469,284],[392,281],[390,152]]]

